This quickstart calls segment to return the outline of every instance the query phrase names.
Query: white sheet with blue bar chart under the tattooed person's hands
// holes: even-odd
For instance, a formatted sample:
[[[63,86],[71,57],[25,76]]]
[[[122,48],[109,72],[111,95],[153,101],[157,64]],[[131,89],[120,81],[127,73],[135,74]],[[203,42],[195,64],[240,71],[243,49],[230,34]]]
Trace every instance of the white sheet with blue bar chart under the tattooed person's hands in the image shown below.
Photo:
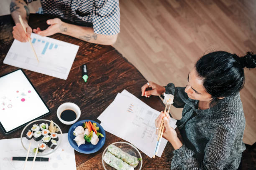
[[[31,34],[29,42],[14,40],[3,63],[66,80],[79,46],[50,37]]]

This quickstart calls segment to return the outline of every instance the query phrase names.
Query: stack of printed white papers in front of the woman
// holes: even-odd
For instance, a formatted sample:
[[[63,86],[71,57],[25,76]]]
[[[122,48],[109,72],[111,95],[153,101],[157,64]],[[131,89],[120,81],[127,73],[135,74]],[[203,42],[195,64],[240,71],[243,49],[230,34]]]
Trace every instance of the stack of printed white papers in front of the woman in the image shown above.
[[[118,93],[115,100],[98,117],[104,130],[136,146],[152,158],[156,150],[155,120],[160,112],[152,109],[127,90]],[[171,118],[170,126],[176,128],[177,120]],[[158,157],[161,157],[167,140],[162,139]]]

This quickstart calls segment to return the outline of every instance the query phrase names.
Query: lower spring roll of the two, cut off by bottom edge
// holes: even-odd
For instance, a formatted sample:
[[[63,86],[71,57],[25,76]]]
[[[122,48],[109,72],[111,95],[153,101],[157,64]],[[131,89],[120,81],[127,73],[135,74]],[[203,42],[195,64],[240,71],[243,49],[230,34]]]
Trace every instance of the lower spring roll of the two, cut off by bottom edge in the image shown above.
[[[132,166],[123,162],[123,160],[116,158],[114,155],[112,155],[108,151],[104,154],[103,160],[105,161],[105,163],[112,166],[116,170],[134,170]]]

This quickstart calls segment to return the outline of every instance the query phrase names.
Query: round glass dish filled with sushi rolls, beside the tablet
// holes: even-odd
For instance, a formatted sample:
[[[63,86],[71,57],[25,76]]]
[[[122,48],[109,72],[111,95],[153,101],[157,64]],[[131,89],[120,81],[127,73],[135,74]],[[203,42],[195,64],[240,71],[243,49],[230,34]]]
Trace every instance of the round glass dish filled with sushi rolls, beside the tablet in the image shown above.
[[[23,148],[28,150],[31,143],[30,153],[36,152],[39,144],[38,156],[45,156],[53,153],[61,143],[62,132],[59,126],[52,120],[34,120],[26,125],[20,135]]]

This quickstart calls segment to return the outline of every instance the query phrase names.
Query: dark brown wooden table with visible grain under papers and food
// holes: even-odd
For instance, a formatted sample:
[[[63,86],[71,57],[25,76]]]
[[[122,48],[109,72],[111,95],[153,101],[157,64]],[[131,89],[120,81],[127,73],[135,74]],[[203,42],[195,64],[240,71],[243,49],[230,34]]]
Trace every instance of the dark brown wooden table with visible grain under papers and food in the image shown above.
[[[29,25],[32,29],[40,27],[44,30],[48,27],[46,20],[50,18],[52,17],[31,14]],[[13,43],[13,26],[14,23],[10,15],[0,17],[0,75],[17,69],[17,67],[3,64],[5,55]],[[63,133],[67,133],[71,126],[62,124],[56,116],[57,108],[64,102],[74,102],[80,107],[81,117],[79,120],[91,119],[100,122],[97,117],[110,105],[118,92],[126,89],[152,108],[159,111],[164,110],[164,105],[159,97],[141,97],[141,86],[147,80],[112,46],[91,44],[62,34],[55,34],[51,37],[80,46],[67,80],[29,70],[24,71],[51,109],[51,114],[44,118],[56,122]],[[89,79],[86,83],[82,79],[81,65],[83,64],[87,65],[89,73]],[[17,130],[10,135],[4,135],[0,131],[0,139],[19,138],[21,130]],[[98,152],[87,155],[75,151],[77,169],[102,170],[101,157],[103,150],[106,146],[117,141],[124,140],[106,132],[105,145]],[[156,157],[155,159],[151,159],[141,152],[143,158],[142,169],[169,170],[173,150],[172,145],[167,143],[162,157]]]

